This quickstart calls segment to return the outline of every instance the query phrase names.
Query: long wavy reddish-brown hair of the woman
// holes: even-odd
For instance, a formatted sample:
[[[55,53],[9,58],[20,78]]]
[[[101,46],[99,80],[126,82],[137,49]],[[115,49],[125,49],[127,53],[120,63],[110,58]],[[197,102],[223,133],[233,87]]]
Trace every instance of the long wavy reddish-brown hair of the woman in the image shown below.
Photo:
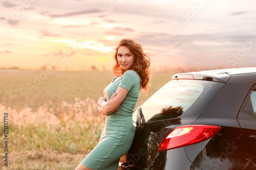
[[[118,77],[123,74],[123,70],[117,60],[117,53],[120,46],[126,46],[133,53],[135,57],[135,61],[131,69],[136,71],[137,74],[140,76],[140,91],[146,92],[148,90],[148,87],[150,86],[149,82],[151,79],[151,73],[150,73],[151,58],[146,56],[146,54],[143,52],[142,46],[136,43],[133,39],[130,39],[130,38],[121,39],[118,46],[115,48],[114,59],[116,63],[113,66],[113,72]]]

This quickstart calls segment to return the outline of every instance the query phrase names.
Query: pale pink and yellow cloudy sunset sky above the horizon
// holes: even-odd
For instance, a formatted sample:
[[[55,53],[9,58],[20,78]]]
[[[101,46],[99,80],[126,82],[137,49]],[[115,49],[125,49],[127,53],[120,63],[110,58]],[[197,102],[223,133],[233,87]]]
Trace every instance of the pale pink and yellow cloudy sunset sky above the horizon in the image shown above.
[[[132,38],[152,69],[256,65],[256,1],[0,1],[0,67],[111,70]]]

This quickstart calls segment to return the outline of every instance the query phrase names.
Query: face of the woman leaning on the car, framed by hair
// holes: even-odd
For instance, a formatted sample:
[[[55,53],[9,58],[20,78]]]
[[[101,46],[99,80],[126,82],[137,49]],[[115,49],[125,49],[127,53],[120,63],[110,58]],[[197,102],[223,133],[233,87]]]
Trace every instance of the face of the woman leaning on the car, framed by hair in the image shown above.
[[[135,56],[126,46],[120,46],[117,51],[117,61],[123,72],[132,69]]]

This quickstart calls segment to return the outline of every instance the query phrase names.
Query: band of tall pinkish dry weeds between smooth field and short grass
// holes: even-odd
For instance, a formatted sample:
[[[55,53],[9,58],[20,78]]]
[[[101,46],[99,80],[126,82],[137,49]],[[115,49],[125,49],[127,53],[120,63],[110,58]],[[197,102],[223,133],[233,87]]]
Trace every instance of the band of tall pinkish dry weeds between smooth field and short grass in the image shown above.
[[[55,108],[41,106],[35,112],[28,107],[18,111],[0,104],[0,112],[8,112],[9,151],[50,149],[87,154],[97,144],[104,126],[105,116],[97,109],[96,101],[90,98],[75,98],[72,104],[62,101]],[[0,122],[3,125],[2,119]]]

